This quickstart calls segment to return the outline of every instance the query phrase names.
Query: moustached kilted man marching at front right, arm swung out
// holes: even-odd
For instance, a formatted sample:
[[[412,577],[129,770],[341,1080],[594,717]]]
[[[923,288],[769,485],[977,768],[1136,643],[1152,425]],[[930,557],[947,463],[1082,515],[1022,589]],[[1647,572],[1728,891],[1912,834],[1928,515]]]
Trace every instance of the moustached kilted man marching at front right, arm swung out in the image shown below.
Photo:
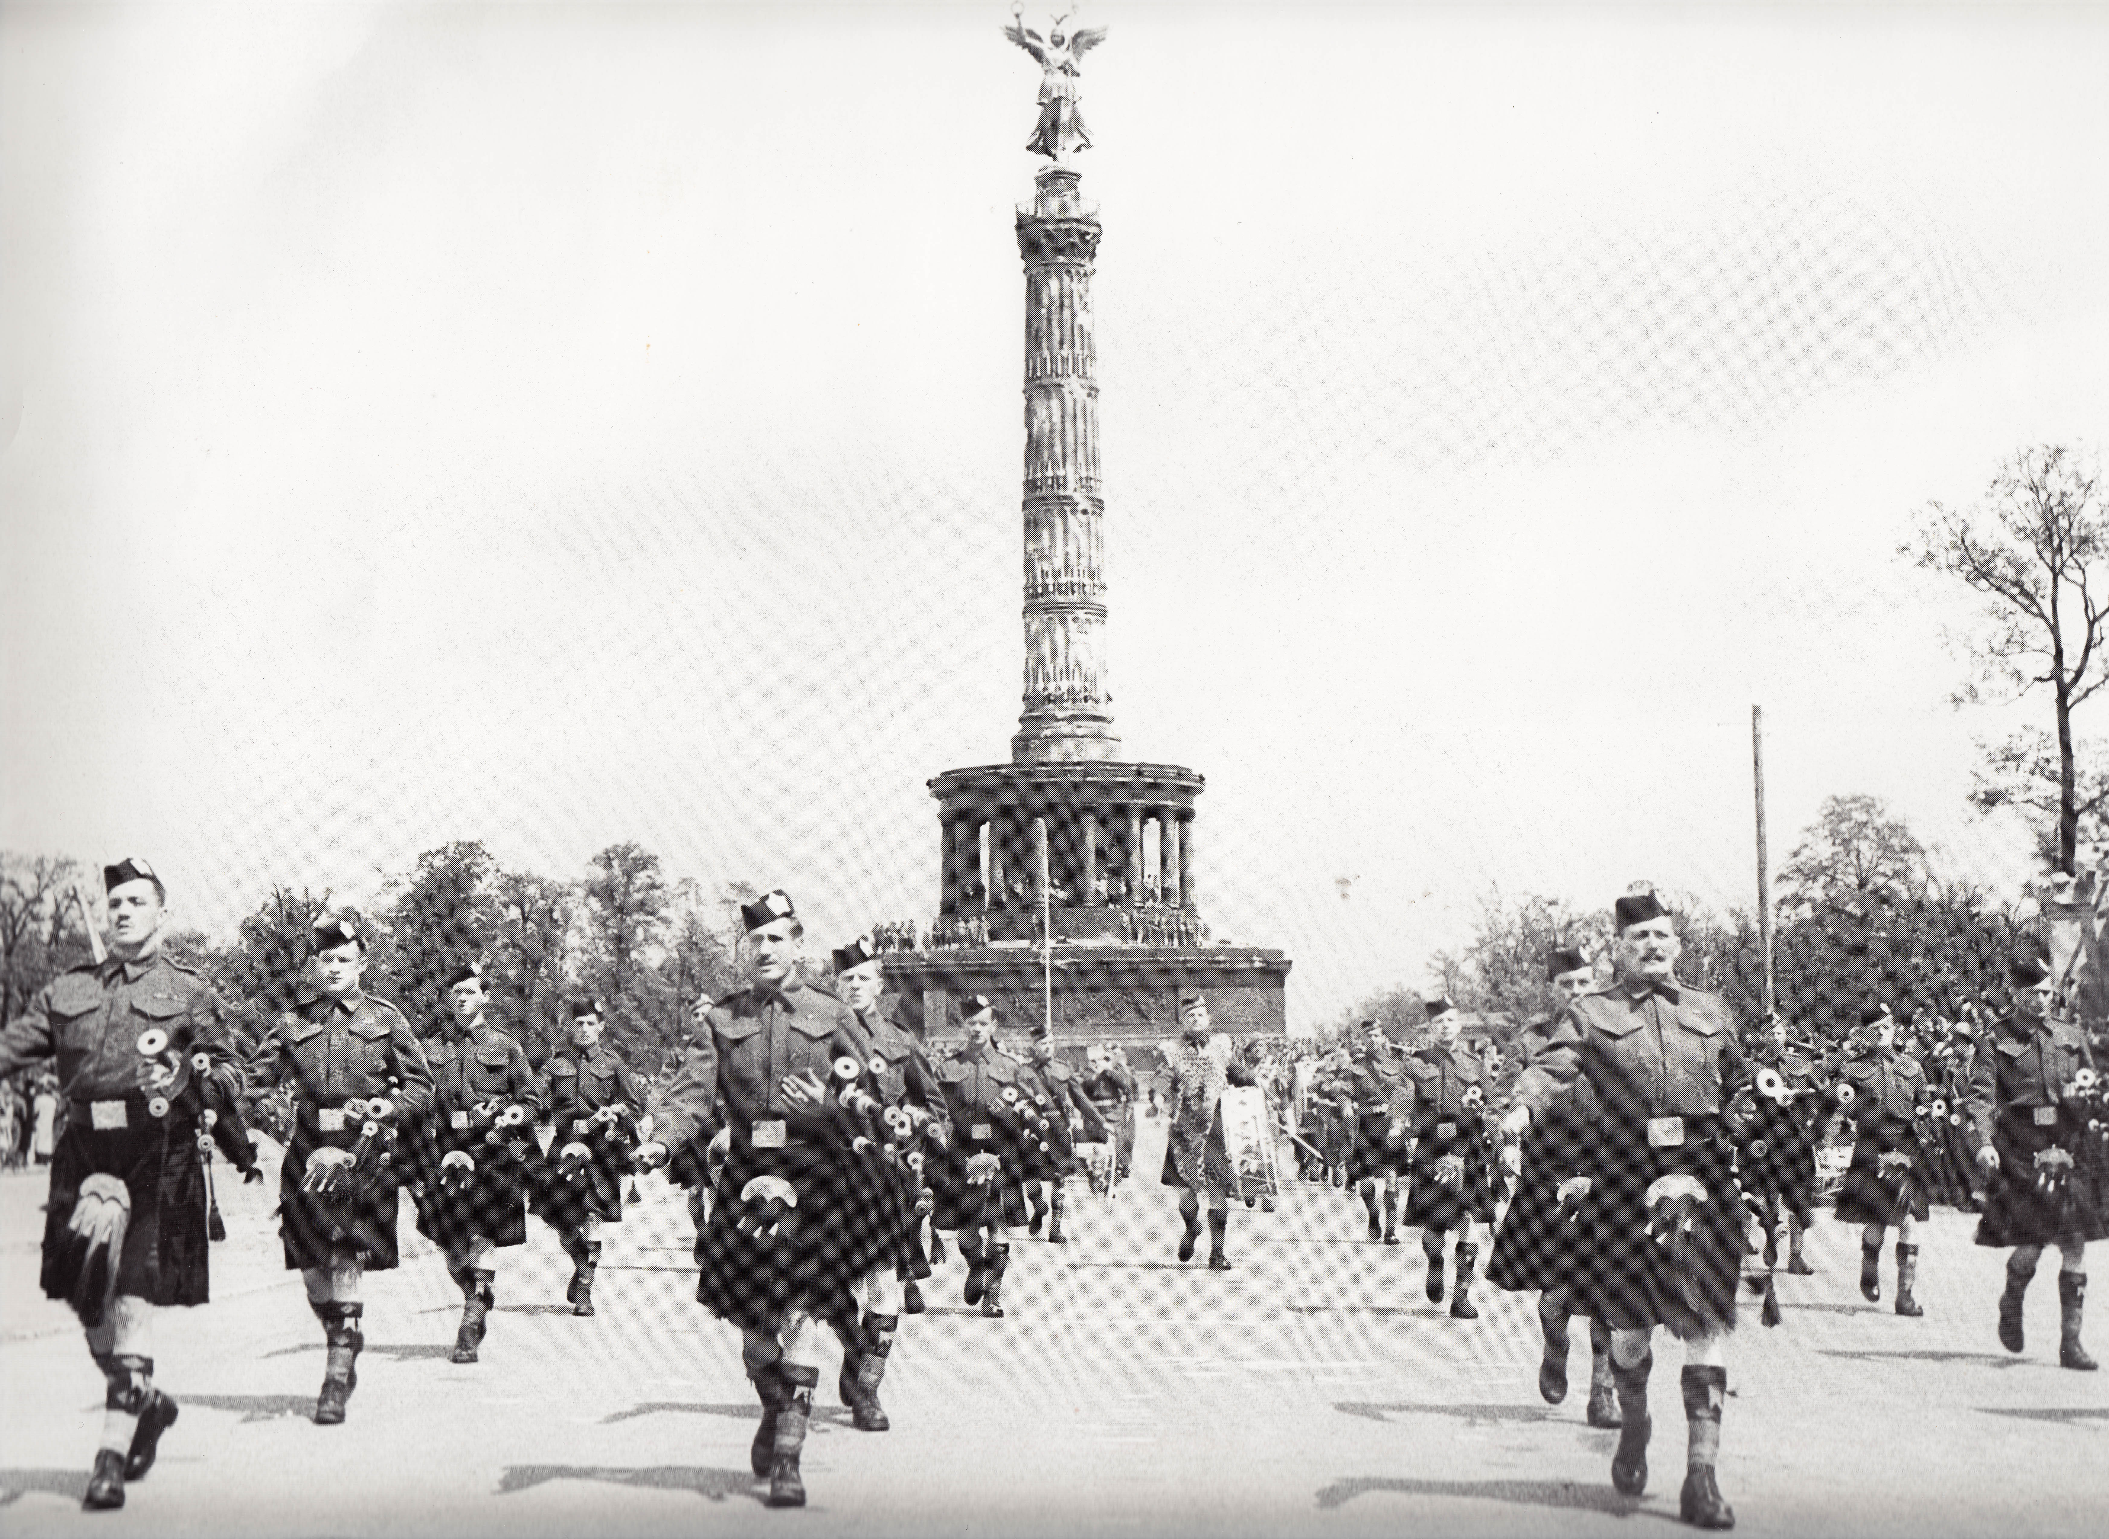
[[[1736,1328],[1742,1271],[1731,1145],[1753,1115],[1750,1069],[1727,1001],[1677,980],[1677,926],[1662,900],[1653,892],[1620,898],[1613,928],[1618,980],[1578,997],[1537,1046],[1502,1132],[1523,1138],[1533,1117],[1588,1079],[1603,1111],[1603,1149],[1569,1297],[1611,1322],[1620,1404],[1611,1484],[1628,1497],[1647,1488],[1647,1379],[1656,1326],[1664,1326],[1685,1343],[1689,1442],[1677,1512],[1700,1528],[1731,1528],[1736,1512],[1715,1465],[1727,1400],[1723,1341]]]

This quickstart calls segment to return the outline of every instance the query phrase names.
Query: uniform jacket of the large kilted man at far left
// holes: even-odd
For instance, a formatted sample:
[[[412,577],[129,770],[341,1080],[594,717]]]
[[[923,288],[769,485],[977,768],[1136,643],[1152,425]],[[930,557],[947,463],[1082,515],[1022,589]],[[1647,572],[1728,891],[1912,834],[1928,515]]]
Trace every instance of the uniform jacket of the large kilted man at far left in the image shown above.
[[[177,1086],[192,1077],[190,1060],[202,1052],[213,1067],[200,1090],[226,1100],[243,1094],[240,1052],[219,995],[194,968],[158,951],[72,968],[38,989],[0,1031],[0,1077],[57,1058],[63,1098],[122,1100],[141,1088],[139,1033],[152,1027],[167,1031],[181,1056]]]

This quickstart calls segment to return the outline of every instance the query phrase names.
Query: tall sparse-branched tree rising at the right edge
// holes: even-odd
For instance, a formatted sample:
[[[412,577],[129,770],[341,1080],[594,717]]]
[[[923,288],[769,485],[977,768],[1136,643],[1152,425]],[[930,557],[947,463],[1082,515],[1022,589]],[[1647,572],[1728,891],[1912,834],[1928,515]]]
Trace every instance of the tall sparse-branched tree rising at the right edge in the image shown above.
[[[2052,753],[2027,736],[1987,748],[1972,801],[2056,814],[2056,869],[2071,871],[2082,793],[2073,710],[2109,681],[2109,508],[2096,468],[2065,445],[2035,445],[1999,466],[1968,508],[1930,502],[1900,554],[1978,595],[1978,628],[1951,641],[1970,658],[1957,704],[2018,700],[2048,687]],[[2054,772],[2054,795],[2052,795]],[[2098,803],[2098,797],[2096,797]]]

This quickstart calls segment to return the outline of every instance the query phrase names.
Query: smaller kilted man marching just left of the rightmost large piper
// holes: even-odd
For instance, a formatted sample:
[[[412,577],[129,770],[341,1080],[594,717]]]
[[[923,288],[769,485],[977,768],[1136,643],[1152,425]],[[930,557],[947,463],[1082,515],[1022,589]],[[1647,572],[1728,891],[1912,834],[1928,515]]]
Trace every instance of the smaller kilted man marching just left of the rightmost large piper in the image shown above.
[[[1860,1297],[1881,1299],[1881,1242],[1896,1225],[1896,1313],[1923,1316],[1913,1284],[1919,1273],[1915,1235],[1928,1216],[1926,1193],[1919,1189],[1919,1128],[1932,1090],[1926,1069],[1909,1052],[1896,1050],[1896,1018],[1890,1006],[1869,1006],[1860,1025],[1873,1041],[1845,1063],[1845,1084],[1854,1122],[1852,1164],[1839,1189],[1841,1223],[1864,1225],[1860,1231]]]

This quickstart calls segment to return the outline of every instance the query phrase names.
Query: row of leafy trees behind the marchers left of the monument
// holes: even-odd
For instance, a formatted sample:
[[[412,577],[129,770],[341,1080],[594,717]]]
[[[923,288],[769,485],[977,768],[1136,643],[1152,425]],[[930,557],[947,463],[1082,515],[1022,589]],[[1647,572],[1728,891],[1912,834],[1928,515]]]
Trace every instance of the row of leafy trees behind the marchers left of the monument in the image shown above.
[[[86,959],[76,881],[101,892],[95,873],[72,860],[0,852],[0,1022]],[[449,1018],[447,968],[475,957],[489,978],[489,1018],[519,1037],[531,1063],[563,1041],[572,999],[599,999],[610,1046],[633,1069],[652,1071],[688,1035],[698,995],[740,985],[738,907],[757,892],[749,881],[713,890],[669,879],[656,854],[628,841],[607,845],[588,875],[567,881],[502,866],[481,839],[460,839],[418,856],[382,885],[378,902],[340,904],[329,888],[283,883],[243,915],[230,940],[175,930],[165,944],[213,980],[253,1041],[312,985],[314,917],[348,913],[373,957],[371,993],[422,1033]]]

